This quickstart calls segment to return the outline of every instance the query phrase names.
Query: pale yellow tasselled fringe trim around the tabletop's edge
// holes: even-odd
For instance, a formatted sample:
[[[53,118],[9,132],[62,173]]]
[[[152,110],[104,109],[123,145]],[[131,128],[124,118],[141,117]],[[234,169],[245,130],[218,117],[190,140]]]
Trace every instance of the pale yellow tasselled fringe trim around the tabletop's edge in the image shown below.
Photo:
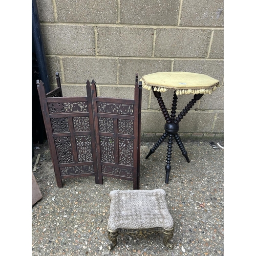
[[[217,87],[220,87],[219,83],[214,84],[210,88],[207,89],[200,89],[200,88],[195,88],[195,89],[175,89],[175,88],[169,88],[169,87],[158,87],[152,85],[145,84],[144,81],[142,80],[142,88],[150,91],[152,90],[152,87],[154,87],[154,91],[157,92],[166,92],[168,89],[173,89],[176,91],[177,95],[182,95],[182,94],[211,94],[216,90]]]

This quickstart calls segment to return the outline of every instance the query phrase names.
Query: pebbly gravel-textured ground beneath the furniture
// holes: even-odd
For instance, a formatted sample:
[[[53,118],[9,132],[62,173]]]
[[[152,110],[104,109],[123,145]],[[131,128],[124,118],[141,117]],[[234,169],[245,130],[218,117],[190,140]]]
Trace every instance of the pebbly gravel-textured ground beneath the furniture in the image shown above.
[[[167,143],[146,160],[154,143],[141,142],[140,189],[166,191],[175,223],[174,249],[163,245],[162,234],[141,239],[119,235],[112,251],[106,248],[109,193],[133,189],[133,183],[104,177],[100,185],[94,177],[85,177],[65,179],[63,188],[58,188],[49,147],[37,145],[32,169],[41,154],[33,173],[42,199],[32,206],[32,255],[224,255],[224,149],[214,149],[209,142],[183,144],[190,163],[174,143],[169,184],[165,184]]]

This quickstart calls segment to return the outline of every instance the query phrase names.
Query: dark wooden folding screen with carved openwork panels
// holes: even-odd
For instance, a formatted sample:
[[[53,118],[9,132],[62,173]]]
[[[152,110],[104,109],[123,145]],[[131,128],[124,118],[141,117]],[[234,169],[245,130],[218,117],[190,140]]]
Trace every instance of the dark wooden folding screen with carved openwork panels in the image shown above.
[[[62,179],[103,176],[133,181],[139,189],[141,84],[134,99],[97,97],[94,80],[87,81],[87,97],[62,97],[58,88],[45,93],[44,83],[37,89],[46,126],[56,182]]]

